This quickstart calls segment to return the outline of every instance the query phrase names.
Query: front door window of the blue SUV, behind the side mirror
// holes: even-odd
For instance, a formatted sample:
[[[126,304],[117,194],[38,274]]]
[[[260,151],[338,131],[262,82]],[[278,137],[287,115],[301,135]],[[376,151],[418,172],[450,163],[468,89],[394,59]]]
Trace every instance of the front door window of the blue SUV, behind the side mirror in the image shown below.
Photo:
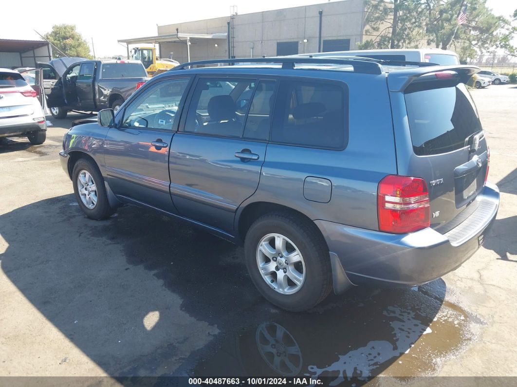
[[[189,78],[158,82],[127,107],[122,126],[172,130]]]

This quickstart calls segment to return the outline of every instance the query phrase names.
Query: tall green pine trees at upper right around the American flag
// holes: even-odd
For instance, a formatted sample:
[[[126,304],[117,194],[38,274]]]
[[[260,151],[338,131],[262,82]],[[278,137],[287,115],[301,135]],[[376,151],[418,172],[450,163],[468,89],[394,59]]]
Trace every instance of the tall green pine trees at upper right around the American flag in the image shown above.
[[[372,38],[359,47],[397,49],[434,45],[444,50],[454,49],[461,60],[497,48],[505,48],[512,55],[515,49],[510,41],[515,27],[509,20],[495,16],[485,2],[370,0],[365,4],[364,34]],[[467,5],[467,20],[458,25],[458,16],[464,5]]]

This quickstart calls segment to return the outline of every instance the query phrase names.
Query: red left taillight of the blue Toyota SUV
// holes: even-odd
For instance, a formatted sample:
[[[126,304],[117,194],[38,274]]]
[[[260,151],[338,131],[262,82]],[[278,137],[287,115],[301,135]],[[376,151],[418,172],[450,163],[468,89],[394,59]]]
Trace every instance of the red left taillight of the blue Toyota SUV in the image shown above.
[[[429,191],[418,177],[388,175],[377,190],[379,230],[405,234],[429,227]]]

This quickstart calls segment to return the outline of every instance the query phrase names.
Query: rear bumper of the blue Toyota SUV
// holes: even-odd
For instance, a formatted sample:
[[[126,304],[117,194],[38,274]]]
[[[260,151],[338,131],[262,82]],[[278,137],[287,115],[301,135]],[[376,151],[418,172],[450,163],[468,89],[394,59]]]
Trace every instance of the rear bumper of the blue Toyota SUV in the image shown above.
[[[445,235],[432,228],[387,234],[327,221],[315,223],[353,284],[413,286],[458,268],[478,250],[497,215],[497,186],[487,183],[476,200],[480,210]]]

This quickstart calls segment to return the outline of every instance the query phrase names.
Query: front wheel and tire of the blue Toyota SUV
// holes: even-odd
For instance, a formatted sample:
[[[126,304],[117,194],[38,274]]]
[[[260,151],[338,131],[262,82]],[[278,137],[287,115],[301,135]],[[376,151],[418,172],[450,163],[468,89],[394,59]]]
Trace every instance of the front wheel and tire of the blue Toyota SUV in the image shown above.
[[[109,218],[116,208],[110,206],[104,179],[97,165],[89,159],[79,159],[73,166],[73,192],[75,199],[88,218]]]

